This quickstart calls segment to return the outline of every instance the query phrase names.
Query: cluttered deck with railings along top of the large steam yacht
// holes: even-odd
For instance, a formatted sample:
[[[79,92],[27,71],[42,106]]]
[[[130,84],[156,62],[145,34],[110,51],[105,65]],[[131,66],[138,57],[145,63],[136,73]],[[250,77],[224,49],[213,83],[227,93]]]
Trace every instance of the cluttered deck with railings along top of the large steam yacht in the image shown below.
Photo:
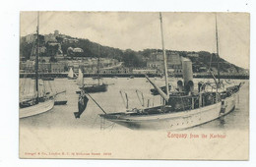
[[[183,92],[172,93],[169,97],[169,101],[164,105],[142,109],[134,108],[131,110],[127,110],[127,112],[102,114],[100,116],[106,119],[116,119],[122,116],[144,116],[184,112],[217,104],[223,99],[236,93],[238,90],[239,85],[235,85],[220,93],[203,92],[192,95],[184,95]]]

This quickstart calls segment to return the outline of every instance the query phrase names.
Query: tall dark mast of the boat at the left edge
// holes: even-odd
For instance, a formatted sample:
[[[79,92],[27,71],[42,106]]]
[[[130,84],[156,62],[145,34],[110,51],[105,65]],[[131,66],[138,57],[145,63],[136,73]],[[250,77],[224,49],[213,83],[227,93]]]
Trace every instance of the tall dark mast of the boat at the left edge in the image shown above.
[[[38,103],[39,99],[39,91],[38,91],[38,56],[39,56],[39,12],[37,13],[37,27],[36,27],[36,54],[35,54],[35,92],[36,92],[36,97],[35,97],[35,102]]]

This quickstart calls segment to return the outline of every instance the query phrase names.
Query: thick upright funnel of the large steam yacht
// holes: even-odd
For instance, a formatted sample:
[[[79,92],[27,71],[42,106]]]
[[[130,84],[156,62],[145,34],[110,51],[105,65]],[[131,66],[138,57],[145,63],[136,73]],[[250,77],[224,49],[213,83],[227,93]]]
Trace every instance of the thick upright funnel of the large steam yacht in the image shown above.
[[[193,91],[194,83],[193,83],[193,71],[192,71],[191,60],[183,58],[183,60],[182,60],[182,75],[183,75],[185,90]]]

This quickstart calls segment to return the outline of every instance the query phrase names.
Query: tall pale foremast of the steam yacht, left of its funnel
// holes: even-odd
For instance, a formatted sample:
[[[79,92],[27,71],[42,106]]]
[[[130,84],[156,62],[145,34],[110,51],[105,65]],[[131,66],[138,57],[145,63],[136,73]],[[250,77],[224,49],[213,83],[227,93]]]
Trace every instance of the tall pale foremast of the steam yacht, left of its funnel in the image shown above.
[[[167,73],[168,71],[167,71],[167,62],[166,62],[166,55],[165,55],[164,41],[163,41],[161,13],[160,13],[160,34],[161,34],[161,45],[162,45],[163,63],[164,63],[164,78],[165,78],[165,86],[166,86],[166,95],[167,95],[167,97],[169,97],[168,73]]]

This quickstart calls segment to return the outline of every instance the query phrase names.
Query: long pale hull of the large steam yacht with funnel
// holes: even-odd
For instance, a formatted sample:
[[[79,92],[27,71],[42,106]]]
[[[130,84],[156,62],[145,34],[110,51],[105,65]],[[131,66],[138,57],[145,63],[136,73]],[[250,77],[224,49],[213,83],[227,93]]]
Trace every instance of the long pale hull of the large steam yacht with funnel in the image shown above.
[[[181,130],[205,124],[228,114],[235,108],[235,100],[236,94],[232,94],[223,102],[194,110],[133,117],[120,115],[119,118],[100,116],[130,129]]]

